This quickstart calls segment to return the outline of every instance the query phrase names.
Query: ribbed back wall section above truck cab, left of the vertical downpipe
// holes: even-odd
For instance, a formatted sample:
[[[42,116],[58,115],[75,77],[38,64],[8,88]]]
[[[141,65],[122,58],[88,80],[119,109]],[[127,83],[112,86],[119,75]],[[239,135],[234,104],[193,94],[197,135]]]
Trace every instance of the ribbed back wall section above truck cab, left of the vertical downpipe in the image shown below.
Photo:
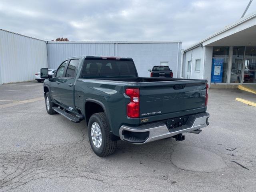
[[[57,69],[64,59],[72,56],[115,56],[115,45],[115,43],[48,42],[48,67],[51,69]]]

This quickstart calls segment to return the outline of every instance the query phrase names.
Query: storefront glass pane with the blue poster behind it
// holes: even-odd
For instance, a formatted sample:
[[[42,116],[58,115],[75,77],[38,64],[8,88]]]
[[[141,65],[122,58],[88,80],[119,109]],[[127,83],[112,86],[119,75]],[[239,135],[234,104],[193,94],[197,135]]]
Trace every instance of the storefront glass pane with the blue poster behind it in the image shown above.
[[[226,83],[228,75],[229,47],[213,47],[212,52],[212,83]]]

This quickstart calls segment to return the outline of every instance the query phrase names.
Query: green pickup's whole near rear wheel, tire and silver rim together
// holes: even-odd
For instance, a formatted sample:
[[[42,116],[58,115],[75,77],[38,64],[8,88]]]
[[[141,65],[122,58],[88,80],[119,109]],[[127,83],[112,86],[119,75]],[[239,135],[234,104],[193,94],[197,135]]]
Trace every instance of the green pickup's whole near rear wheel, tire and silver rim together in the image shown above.
[[[111,155],[116,150],[117,141],[110,139],[105,113],[95,113],[90,117],[88,137],[93,152],[100,157]]]

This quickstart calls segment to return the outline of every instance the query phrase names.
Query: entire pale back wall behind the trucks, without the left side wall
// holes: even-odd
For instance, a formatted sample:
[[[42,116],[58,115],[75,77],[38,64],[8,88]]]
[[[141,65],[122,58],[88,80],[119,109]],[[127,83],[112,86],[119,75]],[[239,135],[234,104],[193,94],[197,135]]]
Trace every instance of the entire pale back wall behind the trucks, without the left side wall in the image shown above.
[[[176,77],[180,74],[181,44],[181,41],[47,42],[48,66],[56,69],[71,56],[121,56],[134,59],[141,77],[148,77],[148,69],[160,64],[168,64]]]

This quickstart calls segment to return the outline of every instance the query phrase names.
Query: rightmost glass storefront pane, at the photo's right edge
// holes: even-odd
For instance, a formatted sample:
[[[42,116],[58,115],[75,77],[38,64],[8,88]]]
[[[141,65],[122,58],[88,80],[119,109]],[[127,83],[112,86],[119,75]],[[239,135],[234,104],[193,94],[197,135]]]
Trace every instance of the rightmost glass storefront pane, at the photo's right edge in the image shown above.
[[[244,58],[243,83],[256,83],[256,47],[246,47]]]

